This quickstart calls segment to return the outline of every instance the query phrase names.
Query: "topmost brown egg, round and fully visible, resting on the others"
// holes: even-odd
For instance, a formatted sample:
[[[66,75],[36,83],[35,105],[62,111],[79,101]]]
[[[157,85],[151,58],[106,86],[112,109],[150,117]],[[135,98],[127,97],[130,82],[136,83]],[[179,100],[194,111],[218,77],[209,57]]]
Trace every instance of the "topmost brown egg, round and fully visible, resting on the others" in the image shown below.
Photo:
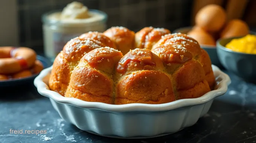
[[[221,6],[207,5],[197,12],[195,23],[206,31],[214,32],[222,28],[226,17],[226,12]]]

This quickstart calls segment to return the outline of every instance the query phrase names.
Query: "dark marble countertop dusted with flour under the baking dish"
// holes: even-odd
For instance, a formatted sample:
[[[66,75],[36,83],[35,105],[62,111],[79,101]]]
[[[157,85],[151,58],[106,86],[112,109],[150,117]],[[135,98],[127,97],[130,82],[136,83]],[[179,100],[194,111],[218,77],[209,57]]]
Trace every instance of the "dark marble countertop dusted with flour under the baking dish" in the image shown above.
[[[33,84],[0,88],[0,143],[256,143],[256,85],[226,73],[232,79],[229,90],[195,125],[163,137],[134,140],[81,131],[61,119]],[[47,134],[10,134],[10,129]]]

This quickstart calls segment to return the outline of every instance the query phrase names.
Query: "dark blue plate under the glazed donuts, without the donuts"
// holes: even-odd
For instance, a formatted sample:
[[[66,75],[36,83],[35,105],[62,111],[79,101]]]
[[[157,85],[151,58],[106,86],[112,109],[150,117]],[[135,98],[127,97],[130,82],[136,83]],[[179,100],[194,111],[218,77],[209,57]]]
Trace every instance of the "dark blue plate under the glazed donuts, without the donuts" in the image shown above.
[[[43,56],[37,55],[37,60],[40,60],[43,63],[44,69],[49,68],[52,65],[52,63]],[[35,77],[37,77],[37,75],[38,74],[34,74],[30,77],[0,81],[0,87],[18,86],[21,84],[33,83],[33,81],[34,81]]]

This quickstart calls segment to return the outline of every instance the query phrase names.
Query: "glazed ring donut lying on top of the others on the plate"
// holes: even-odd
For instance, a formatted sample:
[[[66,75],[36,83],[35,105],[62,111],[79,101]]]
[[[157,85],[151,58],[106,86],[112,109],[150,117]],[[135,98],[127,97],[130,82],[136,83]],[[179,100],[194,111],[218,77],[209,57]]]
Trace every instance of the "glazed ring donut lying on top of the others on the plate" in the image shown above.
[[[23,69],[28,69],[36,60],[34,50],[26,47],[1,47],[0,48],[0,74],[13,74]]]

